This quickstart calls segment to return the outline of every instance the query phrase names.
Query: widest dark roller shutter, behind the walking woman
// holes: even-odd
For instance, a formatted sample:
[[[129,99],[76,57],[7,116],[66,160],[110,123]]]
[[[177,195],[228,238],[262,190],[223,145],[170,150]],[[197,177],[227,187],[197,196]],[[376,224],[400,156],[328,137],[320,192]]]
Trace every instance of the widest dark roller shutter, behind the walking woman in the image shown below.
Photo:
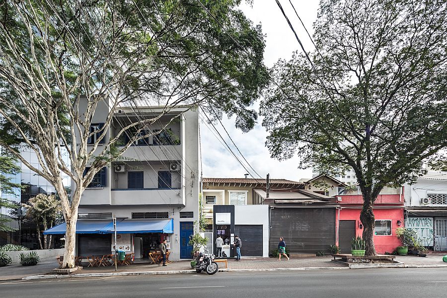
[[[284,237],[292,253],[328,252],[335,243],[335,208],[274,208],[270,226],[270,251]]]

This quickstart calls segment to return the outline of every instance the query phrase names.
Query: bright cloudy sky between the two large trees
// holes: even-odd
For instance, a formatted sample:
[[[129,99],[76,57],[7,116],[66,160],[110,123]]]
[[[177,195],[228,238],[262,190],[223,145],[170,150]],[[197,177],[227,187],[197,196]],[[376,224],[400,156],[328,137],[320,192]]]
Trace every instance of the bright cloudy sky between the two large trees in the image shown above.
[[[289,0],[281,0],[280,2],[296,29],[298,37],[304,45],[304,49],[306,51],[313,50],[311,41],[307,37]],[[312,34],[312,23],[316,19],[318,0],[292,0],[292,3],[297,9],[298,15],[301,17],[307,30]],[[289,60],[293,52],[298,50],[298,41],[275,0],[254,0],[253,6],[243,3],[240,9],[255,25],[259,23],[262,25],[262,31],[266,35],[264,63],[267,67],[272,67],[278,59]],[[258,109],[258,107],[258,104],[254,105],[254,108]],[[222,123],[236,146],[261,177],[265,177],[267,173],[270,173],[271,178],[283,178],[294,181],[312,177],[311,169],[298,169],[299,159],[297,156],[281,162],[270,157],[270,153],[265,147],[268,134],[260,124],[262,122],[261,118],[258,118],[258,124],[248,133],[242,133],[242,131],[234,127],[234,118],[228,119],[224,116]],[[243,158],[240,157],[237,149],[231,144],[222,126],[219,123],[215,123],[214,125],[224,137],[227,144],[233,149],[234,153],[243,161]],[[200,124],[200,134],[203,177],[243,178],[247,171],[225,149],[224,145],[212,133],[210,127],[204,122]],[[251,170],[248,166],[246,168]],[[256,175],[252,178],[259,177]]]

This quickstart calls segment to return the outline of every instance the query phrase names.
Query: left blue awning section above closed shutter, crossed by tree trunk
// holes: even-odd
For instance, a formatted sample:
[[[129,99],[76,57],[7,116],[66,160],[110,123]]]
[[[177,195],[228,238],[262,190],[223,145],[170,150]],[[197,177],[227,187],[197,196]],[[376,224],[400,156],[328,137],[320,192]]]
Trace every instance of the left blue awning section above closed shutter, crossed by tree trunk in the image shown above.
[[[112,220],[78,220],[76,223],[76,234],[103,234],[112,226]],[[45,235],[65,234],[67,224],[59,224],[47,229]]]

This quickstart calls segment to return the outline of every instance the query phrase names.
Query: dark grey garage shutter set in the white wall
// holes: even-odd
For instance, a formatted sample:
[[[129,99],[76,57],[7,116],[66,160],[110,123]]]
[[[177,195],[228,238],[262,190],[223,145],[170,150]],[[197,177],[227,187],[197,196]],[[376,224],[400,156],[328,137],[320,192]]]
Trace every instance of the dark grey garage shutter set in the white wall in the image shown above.
[[[262,257],[262,224],[236,224],[234,235],[242,241],[240,254],[247,257]]]

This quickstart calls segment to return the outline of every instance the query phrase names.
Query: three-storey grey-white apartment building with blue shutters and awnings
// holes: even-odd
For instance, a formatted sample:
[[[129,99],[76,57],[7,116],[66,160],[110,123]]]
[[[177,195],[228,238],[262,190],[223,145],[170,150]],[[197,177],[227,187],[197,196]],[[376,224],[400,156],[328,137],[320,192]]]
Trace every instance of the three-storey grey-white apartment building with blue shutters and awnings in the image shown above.
[[[162,109],[138,107],[136,111],[121,107],[104,144],[123,126],[160,115]],[[104,126],[107,114],[107,103],[98,104],[91,131]],[[135,259],[148,258],[149,252],[166,239],[170,260],[191,258],[189,237],[194,233],[193,223],[199,219],[198,110],[192,106],[174,107],[144,130],[145,135],[155,134],[135,142],[120,161],[98,172],[83,192],[76,226],[76,255],[114,252],[112,219],[116,218],[118,250],[134,253]],[[128,135],[123,136],[122,144],[128,140]],[[47,232],[57,233],[58,229],[65,232],[62,225]]]

